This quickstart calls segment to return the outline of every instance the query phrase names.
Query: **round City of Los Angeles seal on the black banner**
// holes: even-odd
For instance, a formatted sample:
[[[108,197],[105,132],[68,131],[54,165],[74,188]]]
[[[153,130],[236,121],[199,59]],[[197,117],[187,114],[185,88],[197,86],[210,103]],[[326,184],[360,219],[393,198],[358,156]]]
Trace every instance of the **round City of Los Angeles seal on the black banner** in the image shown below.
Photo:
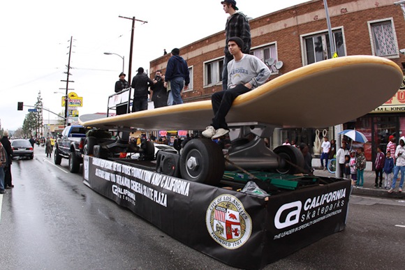
[[[209,204],[205,222],[209,235],[224,248],[240,248],[251,235],[251,218],[233,195],[216,197]]]

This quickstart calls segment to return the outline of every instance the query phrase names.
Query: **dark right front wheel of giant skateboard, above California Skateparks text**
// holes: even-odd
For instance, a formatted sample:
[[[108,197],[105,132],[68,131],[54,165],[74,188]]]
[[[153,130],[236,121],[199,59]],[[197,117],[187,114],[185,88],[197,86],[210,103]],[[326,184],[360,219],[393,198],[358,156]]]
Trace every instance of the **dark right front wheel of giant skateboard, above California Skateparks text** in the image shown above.
[[[282,166],[277,168],[277,172],[280,174],[297,174],[304,170],[304,156],[297,147],[281,145],[281,147],[274,149],[274,153],[277,153],[281,158]],[[295,164],[297,167],[290,163]]]

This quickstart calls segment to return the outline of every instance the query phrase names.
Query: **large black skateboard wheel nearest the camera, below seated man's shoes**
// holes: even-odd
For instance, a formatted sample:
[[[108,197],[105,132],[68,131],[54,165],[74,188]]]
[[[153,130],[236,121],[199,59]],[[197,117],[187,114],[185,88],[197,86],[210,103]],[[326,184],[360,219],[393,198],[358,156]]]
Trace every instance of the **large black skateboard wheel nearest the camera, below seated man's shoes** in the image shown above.
[[[222,179],[223,170],[225,159],[218,144],[200,139],[187,142],[180,156],[183,179],[216,185]]]

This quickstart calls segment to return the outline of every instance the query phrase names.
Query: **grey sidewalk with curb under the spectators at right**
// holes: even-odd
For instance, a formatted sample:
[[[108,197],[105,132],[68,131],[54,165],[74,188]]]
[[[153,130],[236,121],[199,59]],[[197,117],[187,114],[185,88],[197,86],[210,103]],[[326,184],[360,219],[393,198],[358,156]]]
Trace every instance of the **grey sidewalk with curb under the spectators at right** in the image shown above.
[[[331,174],[327,170],[322,170],[315,168],[314,175],[317,177],[334,177],[334,174]],[[397,185],[393,193],[388,193],[388,190],[384,188],[374,188],[376,173],[371,170],[364,170],[364,185],[363,188],[355,188],[353,186],[352,194],[354,195],[365,195],[373,197],[388,197],[393,199],[405,199],[405,191],[402,193],[398,192],[399,180],[401,174],[399,174],[399,179],[397,180]],[[404,189],[405,190],[405,189]]]

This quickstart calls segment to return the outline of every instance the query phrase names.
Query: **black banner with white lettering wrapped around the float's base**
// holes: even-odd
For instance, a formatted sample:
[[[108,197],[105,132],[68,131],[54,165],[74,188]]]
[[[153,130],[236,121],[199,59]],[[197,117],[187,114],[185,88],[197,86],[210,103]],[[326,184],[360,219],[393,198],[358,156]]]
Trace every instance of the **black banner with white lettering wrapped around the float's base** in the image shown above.
[[[233,267],[258,269],[344,230],[350,181],[264,198],[84,157],[84,183],[171,237]]]

